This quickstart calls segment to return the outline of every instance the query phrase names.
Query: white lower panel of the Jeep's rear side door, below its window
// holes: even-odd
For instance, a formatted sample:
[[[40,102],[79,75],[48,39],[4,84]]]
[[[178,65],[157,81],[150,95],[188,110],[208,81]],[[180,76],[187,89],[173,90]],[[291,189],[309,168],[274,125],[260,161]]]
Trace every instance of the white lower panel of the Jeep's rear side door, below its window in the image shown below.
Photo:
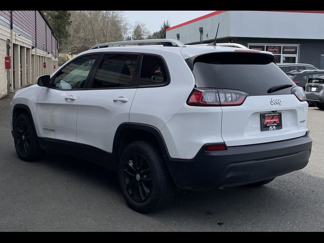
[[[77,103],[76,142],[112,152],[118,126],[129,121],[136,89],[84,90]],[[128,102],[113,102],[124,97]]]

